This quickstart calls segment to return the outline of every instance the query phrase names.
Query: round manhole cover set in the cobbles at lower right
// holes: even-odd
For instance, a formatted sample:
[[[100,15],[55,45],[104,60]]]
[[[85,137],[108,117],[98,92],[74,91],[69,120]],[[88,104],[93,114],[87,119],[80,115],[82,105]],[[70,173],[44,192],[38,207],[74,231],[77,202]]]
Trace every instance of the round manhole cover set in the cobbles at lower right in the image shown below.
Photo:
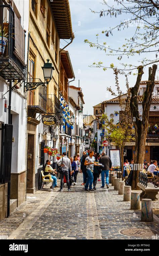
[[[143,228],[128,228],[120,231],[123,235],[138,236],[138,237],[152,237],[157,234],[156,230]]]

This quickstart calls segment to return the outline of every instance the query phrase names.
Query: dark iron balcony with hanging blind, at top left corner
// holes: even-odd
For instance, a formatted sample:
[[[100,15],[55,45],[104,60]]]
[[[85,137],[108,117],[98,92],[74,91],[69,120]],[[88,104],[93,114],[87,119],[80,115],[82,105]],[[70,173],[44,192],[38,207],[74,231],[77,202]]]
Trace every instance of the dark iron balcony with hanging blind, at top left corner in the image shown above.
[[[0,76],[21,81],[25,79],[25,33],[9,4],[0,5],[0,13]]]

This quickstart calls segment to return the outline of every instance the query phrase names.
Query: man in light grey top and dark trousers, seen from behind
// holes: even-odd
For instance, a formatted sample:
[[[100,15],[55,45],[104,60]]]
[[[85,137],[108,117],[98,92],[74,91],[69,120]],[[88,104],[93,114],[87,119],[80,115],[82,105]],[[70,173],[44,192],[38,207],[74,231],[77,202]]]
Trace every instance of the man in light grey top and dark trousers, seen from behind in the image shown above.
[[[63,162],[62,162],[63,161]],[[69,183],[69,172],[68,169],[70,169],[70,175],[72,175],[72,166],[71,166],[71,161],[70,159],[67,157],[66,152],[62,153],[62,158],[60,158],[57,161],[57,164],[59,166],[62,167],[62,170],[64,171],[64,173],[61,174],[61,183],[60,183],[60,191],[62,192],[63,189],[63,179],[64,179],[64,175],[66,178],[66,182],[67,182],[67,187],[68,187],[68,191],[70,191],[70,183]]]

